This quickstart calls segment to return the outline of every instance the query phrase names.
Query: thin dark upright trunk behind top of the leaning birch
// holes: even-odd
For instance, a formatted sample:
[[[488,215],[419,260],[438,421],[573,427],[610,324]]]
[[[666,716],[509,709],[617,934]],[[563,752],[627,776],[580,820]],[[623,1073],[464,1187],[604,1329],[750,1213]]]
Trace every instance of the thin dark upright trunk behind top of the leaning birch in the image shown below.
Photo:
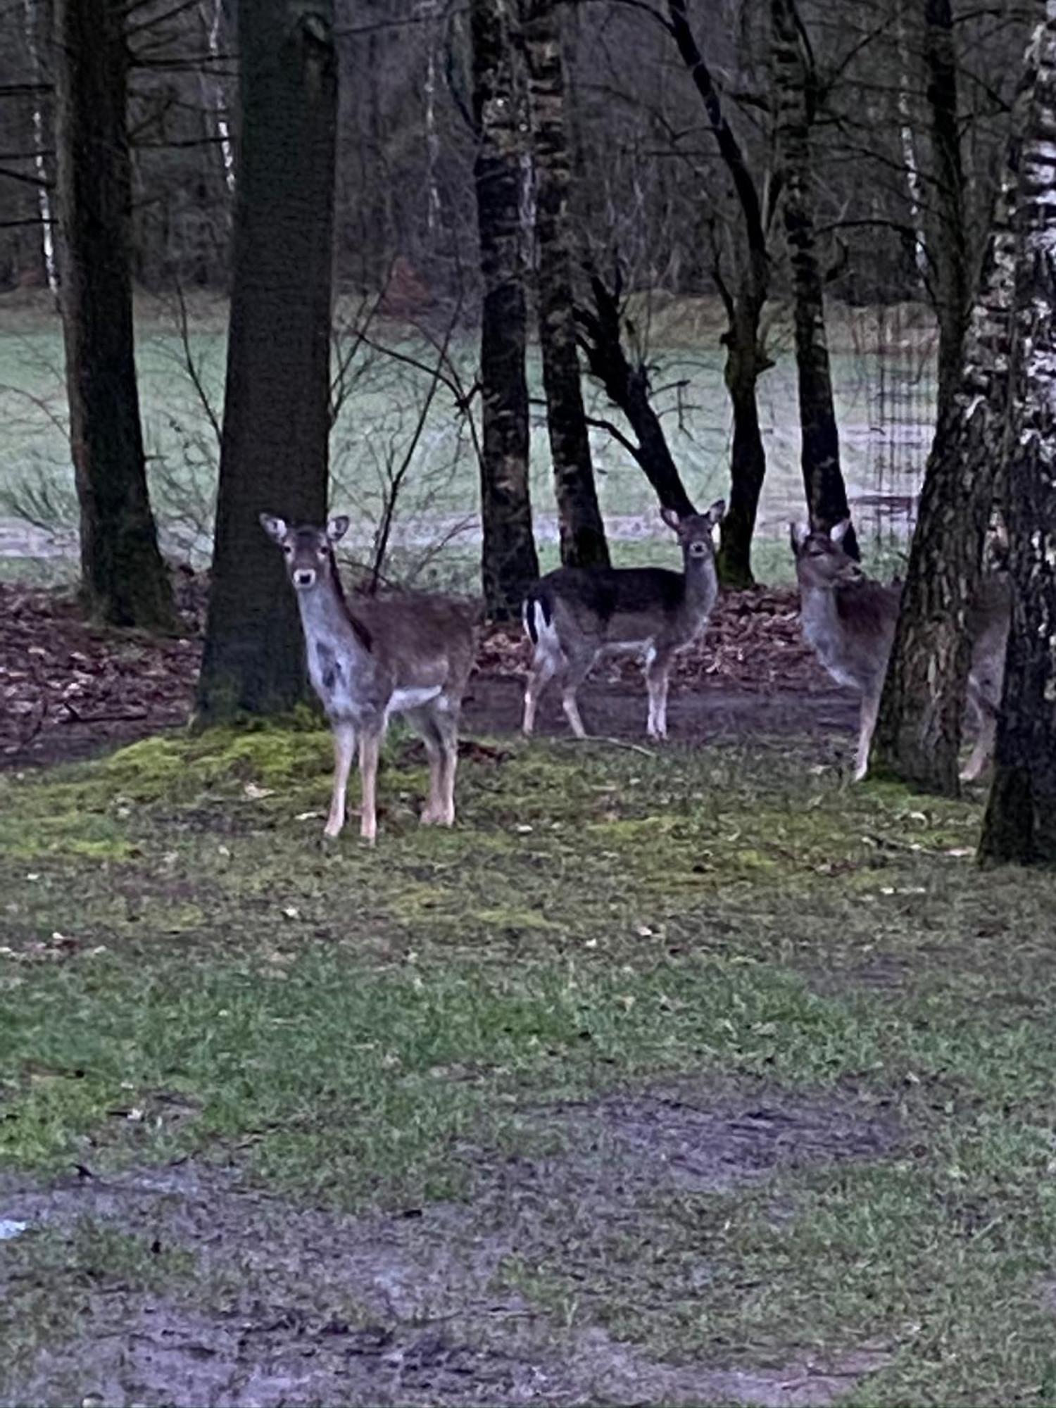
[[[924,61],[928,70],[935,159],[935,311],[939,320],[936,424],[949,414],[960,386],[964,334],[972,313],[964,169],[957,118],[957,51],[950,0],[924,0]]]

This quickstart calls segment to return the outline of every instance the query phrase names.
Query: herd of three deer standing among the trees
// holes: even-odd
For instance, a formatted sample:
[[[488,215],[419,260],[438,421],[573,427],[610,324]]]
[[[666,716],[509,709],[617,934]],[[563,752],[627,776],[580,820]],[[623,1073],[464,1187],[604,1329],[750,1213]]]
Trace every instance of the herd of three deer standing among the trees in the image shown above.
[[[725,513],[719,500],[705,514],[663,521],[679,539],[683,572],[660,567],[559,567],[528,593],[524,625],[532,663],[524,696],[524,732],[531,735],[539,696],[553,680],[577,738],[586,738],[576,693],[605,655],[641,655],[649,694],[646,731],[667,734],[667,680],[674,655],[697,639],[718,597],[712,529]],[[311,683],[334,732],[334,791],[325,835],[345,824],[345,794],[359,746],[360,832],[377,831],[376,781],[382,739],[393,714],[421,734],[429,759],[429,798],[421,819],[449,826],[455,819],[458,717],[476,653],[476,612],[439,596],[366,597],[352,603],[341,584],[334,548],[348,518],[325,528],[290,527],[260,515],[265,532],[286,556],[297,593]],[[848,522],[831,531],[791,528],[800,583],[803,632],[821,665],[860,697],[855,777],[869,767],[869,748],[887,659],[898,618],[900,586],[865,576],[842,548]],[[1007,579],[988,576],[970,620],[969,710],[977,742],[963,772],[977,777],[994,743],[1011,612]]]

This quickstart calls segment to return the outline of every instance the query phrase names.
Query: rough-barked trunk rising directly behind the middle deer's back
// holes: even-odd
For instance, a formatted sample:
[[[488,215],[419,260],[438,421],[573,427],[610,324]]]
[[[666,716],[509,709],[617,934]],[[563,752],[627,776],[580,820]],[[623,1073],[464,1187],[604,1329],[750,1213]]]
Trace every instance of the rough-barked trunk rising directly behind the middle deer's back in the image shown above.
[[[524,0],[524,48],[536,175],[539,344],[560,518],[560,558],[572,567],[604,567],[608,566],[608,545],[590,460],[576,349],[570,172],[558,0]]]

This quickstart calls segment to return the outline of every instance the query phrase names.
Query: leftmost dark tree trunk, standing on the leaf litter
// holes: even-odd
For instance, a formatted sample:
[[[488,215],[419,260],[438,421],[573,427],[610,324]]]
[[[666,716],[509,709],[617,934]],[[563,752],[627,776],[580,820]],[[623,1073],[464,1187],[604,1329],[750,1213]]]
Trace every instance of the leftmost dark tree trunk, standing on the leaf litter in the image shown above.
[[[82,593],[111,625],[175,631],[146,493],[130,268],[128,51],[120,0],[58,0],[62,327]]]

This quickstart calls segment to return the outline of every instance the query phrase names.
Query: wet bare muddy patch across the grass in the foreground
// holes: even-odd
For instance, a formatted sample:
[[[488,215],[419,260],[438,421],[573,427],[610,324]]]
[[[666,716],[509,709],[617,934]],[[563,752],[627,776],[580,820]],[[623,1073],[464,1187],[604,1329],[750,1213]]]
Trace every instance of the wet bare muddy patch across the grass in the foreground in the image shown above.
[[[463,1204],[339,1217],[242,1186],[232,1167],[182,1163],[51,1187],[0,1183],[0,1214],[38,1233],[90,1219],[149,1247],[190,1253],[183,1293],[130,1288],[113,1264],[49,1287],[75,1324],[24,1367],[6,1404],[829,1404],[890,1357],[845,1354],[714,1369],[650,1359],[594,1322],[591,1255],[670,1193],[758,1184],[781,1167],[876,1159],[898,1142],[880,1108],[681,1083],[531,1117],[559,1153],[501,1159],[466,1149]],[[777,1214],[776,1214],[777,1215]],[[24,1233],[25,1235],[25,1233]],[[579,1245],[579,1256],[576,1246]],[[570,1247],[572,1255],[570,1255]],[[517,1269],[560,1252],[576,1314],[545,1314]],[[90,1262],[90,1256],[89,1256]],[[707,1264],[694,1274],[708,1277]],[[0,1291],[17,1263],[0,1257]],[[658,1288],[658,1294],[662,1294]]]

